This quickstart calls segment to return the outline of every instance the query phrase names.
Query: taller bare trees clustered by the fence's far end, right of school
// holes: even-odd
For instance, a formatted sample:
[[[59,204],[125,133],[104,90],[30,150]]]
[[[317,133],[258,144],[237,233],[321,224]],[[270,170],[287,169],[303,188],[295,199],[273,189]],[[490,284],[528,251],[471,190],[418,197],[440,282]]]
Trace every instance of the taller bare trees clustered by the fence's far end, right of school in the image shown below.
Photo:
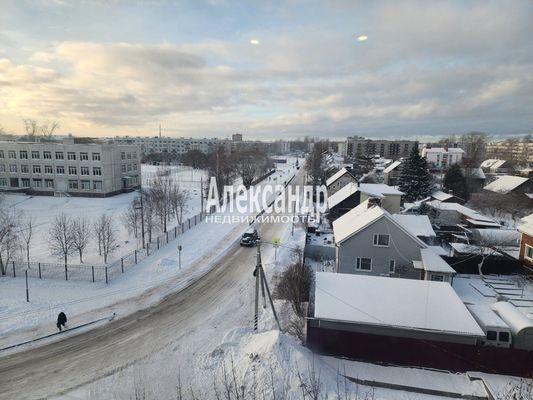
[[[170,221],[183,222],[188,200],[189,193],[172,179],[170,171],[161,173],[132,200],[123,215],[124,226],[135,238],[144,229],[148,242],[151,242],[154,232],[166,232]]]

